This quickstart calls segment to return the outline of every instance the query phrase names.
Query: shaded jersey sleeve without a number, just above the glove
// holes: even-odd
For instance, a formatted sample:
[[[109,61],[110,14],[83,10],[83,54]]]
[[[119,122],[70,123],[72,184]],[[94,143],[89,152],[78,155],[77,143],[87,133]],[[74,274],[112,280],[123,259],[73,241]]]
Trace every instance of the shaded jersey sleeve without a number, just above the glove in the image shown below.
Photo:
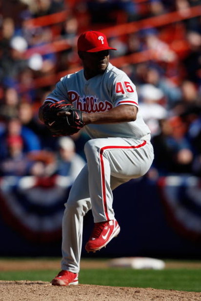
[[[56,102],[60,100],[68,100],[67,89],[64,85],[64,78],[62,77],[60,81],[56,84],[55,89],[47,95],[45,101]]]

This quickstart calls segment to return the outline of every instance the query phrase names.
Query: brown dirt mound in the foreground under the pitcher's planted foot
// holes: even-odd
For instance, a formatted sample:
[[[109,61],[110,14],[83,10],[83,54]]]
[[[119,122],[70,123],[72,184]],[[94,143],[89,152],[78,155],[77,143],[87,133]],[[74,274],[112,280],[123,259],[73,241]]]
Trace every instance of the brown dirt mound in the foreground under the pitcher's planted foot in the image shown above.
[[[201,293],[153,288],[79,284],[52,286],[49,282],[0,281],[0,301],[201,301]]]

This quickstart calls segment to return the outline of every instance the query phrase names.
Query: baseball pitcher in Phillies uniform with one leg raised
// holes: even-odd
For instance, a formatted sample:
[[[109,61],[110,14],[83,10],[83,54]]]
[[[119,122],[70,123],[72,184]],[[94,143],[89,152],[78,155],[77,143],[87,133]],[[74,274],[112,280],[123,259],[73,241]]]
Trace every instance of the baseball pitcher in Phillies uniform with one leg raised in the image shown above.
[[[62,77],[40,108],[40,119],[53,135],[84,127],[91,138],[84,146],[87,164],[65,204],[61,271],[52,285],[78,284],[83,217],[88,210],[94,229],[85,245],[87,252],[100,250],[118,235],[112,190],[144,175],[154,158],[136,87],[109,63],[109,50],[116,49],[109,47],[103,33],[82,33],[78,54],[83,69]]]

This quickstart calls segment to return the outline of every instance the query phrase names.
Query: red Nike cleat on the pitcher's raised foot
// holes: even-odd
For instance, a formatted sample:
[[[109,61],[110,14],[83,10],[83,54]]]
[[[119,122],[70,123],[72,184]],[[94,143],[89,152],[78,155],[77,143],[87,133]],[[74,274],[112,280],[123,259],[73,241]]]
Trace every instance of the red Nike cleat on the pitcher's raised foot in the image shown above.
[[[95,223],[93,232],[85,245],[87,252],[96,252],[107,245],[113,237],[120,232],[120,226],[116,220]]]

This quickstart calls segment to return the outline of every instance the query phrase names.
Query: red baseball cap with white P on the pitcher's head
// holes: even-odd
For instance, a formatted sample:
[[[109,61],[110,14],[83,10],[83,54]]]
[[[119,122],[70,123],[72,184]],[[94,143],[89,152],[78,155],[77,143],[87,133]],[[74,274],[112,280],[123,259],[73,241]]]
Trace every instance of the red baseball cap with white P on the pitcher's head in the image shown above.
[[[99,52],[109,49],[117,50],[110,47],[105,35],[98,31],[85,31],[78,38],[78,51]]]

